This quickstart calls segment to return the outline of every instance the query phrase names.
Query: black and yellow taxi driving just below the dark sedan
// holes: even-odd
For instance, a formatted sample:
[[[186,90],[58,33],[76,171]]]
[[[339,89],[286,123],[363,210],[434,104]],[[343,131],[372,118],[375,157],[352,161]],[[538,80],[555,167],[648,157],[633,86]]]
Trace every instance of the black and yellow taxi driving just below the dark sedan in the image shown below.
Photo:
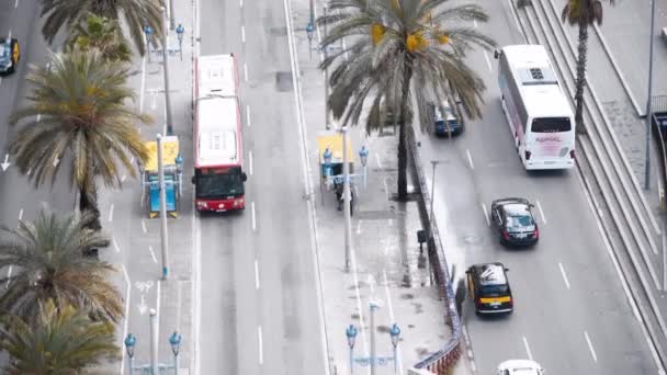
[[[512,312],[515,303],[507,271],[500,262],[475,264],[465,271],[477,315]]]

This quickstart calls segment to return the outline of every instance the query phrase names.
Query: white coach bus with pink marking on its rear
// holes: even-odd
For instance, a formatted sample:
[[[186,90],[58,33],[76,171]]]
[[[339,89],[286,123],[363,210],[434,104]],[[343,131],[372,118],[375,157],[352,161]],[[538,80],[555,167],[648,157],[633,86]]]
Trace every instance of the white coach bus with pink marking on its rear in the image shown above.
[[[506,46],[495,57],[502,111],[523,167],[574,167],[574,115],[546,49],[541,45]]]

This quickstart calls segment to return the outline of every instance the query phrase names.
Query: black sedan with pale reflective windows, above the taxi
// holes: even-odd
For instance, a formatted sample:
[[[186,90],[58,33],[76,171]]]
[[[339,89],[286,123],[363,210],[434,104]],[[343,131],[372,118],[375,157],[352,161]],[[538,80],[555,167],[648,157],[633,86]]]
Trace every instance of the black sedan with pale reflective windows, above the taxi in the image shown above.
[[[534,245],[540,229],[525,198],[508,197],[491,203],[490,223],[502,245]]]

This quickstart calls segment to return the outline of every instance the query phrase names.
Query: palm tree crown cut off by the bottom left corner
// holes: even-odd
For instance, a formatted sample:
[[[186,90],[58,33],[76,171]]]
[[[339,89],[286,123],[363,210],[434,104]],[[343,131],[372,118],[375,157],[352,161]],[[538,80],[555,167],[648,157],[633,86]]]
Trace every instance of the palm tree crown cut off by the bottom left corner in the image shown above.
[[[80,374],[83,367],[117,357],[114,327],[91,321],[70,305],[39,304],[37,321],[7,315],[1,319],[0,348],[11,356],[10,375]]]

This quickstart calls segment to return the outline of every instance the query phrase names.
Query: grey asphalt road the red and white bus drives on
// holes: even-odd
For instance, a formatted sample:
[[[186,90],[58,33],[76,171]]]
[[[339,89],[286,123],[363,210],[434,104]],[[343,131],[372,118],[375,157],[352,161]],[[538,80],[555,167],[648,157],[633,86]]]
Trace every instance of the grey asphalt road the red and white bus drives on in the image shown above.
[[[201,373],[324,374],[283,1],[200,4],[201,55],[237,56],[248,173],[245,212],[199,217]]]

